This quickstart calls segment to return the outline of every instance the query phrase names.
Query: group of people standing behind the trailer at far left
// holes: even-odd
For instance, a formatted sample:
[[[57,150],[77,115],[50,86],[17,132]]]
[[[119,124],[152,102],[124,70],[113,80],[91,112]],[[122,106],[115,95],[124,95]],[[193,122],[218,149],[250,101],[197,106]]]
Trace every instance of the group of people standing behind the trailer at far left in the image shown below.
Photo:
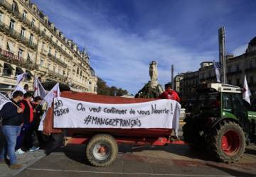
[[[22,166],[18,164],[16,154],[43,148],[43,135],[38,131],[44,111],[42,101],[40,96],[33,98],[31,93],[15,91],[11,101],[1,108],[0,164],[7,163],[10,169],[20,169]]]

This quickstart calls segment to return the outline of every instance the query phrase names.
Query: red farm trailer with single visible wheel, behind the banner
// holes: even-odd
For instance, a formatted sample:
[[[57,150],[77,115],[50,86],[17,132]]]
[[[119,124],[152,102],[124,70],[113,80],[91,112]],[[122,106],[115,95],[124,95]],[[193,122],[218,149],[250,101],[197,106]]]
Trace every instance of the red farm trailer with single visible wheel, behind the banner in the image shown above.
[[[146,98],[122,98],[117,96],[99,96],[91,93],[65,91],[62,97],[92,103],[142,103],[153,101]],[[118,128],[75,128],[68,130],[65,144],[87,144],[86,155],[94,166],[108,166],[117,158],[117,144],[159,145],[184,144],[183,141],[171,141],[171,129],[118,129]],[[44,121],[46,134],[60,133],[63,129],[53,128],[53,110],[50,108]]]

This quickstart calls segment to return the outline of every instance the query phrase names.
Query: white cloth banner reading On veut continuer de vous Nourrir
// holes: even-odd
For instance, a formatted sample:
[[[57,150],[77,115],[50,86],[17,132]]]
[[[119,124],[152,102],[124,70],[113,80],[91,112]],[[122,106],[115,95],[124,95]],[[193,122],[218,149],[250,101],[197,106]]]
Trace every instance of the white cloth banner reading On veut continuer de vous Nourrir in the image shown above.
[[[104,104],[58,97],[54,100],[56,128],[178,129],[181,105],[174,100]]]

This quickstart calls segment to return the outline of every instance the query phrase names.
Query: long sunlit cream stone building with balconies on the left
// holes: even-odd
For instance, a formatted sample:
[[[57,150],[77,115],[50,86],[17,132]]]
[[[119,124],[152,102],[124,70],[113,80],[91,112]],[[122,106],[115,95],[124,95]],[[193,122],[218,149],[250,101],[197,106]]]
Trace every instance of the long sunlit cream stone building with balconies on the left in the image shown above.
[[[97,76],[87,52],[49,21],[29,0],[0,0],[0,89],[16,86],[16,75],[28,73],[42,82],[58,81],[73,91],[97,93]]]

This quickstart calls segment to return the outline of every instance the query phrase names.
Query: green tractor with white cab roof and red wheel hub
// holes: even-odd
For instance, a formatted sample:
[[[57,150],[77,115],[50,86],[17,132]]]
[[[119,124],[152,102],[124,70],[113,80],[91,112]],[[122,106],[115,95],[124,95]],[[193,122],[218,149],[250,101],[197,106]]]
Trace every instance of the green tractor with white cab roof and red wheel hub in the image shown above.
[[[255,108],[242,99],[238,86],[204,84],[197,92],[193,112],[184,120],[185,142],[196,149],[208,149],[218,161],[238,161],[245,146],[256,143]]]

